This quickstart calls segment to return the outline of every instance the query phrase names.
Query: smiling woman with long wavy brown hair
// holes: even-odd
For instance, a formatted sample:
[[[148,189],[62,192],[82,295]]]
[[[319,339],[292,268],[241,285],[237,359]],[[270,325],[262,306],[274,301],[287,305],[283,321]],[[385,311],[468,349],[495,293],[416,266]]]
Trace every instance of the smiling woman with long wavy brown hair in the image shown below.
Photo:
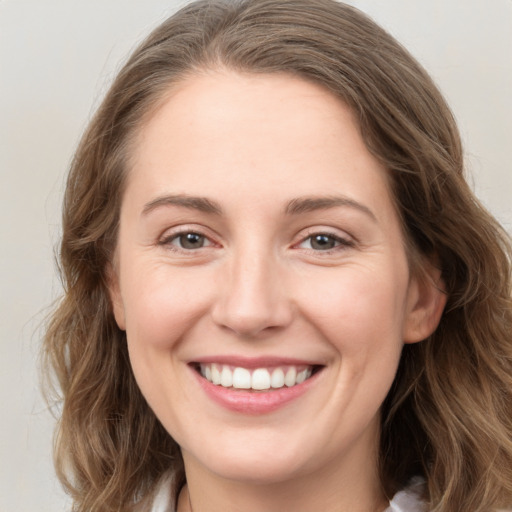
[[[63,222],[76,510],[512,505],[510,240],[359,11],[185,7],[99,108]]]

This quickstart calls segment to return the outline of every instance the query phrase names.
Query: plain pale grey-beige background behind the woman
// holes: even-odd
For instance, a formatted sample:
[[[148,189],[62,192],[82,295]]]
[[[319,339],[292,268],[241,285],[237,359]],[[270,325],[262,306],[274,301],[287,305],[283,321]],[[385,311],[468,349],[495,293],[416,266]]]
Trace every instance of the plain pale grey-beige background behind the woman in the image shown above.
[[[69,510],[38,390],[73,149],[120,62],[172,0],[0,0],[0,512]],[[460,123],[479,197],[512,232],[512,1],[353,0],[425,65]]]

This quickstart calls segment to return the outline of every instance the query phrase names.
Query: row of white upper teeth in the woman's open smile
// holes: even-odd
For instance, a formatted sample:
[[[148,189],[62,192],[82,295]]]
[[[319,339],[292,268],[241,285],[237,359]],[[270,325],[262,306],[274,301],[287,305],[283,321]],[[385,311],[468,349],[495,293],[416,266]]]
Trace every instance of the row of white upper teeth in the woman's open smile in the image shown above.
[[[285,366],[248,370],[221,364],[200,364],[201,375],[217,386],[263,390],[291,387],[311,377],[312,367]]]

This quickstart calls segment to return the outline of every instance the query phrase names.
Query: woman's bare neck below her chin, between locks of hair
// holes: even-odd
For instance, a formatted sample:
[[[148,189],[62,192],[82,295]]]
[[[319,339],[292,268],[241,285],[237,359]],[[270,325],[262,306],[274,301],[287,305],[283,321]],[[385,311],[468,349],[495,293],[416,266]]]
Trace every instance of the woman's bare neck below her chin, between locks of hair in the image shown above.
[[[187,486],[178,512],[382,512],[388,505],[380,486],[376,451],[359,450],[343,461],[278,482],[246,482],[208,472],[184,453]]]

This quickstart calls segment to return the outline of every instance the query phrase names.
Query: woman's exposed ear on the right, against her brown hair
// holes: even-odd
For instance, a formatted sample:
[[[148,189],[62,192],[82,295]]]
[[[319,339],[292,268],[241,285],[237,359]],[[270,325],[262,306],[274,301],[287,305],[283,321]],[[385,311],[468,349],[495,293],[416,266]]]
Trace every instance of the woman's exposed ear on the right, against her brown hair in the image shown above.
[[[437,329],[446,299],[441,271],[431,263],[424,263],[421,275],[411,276],[409,281],[402,334],[404,343],[423,341]]]

